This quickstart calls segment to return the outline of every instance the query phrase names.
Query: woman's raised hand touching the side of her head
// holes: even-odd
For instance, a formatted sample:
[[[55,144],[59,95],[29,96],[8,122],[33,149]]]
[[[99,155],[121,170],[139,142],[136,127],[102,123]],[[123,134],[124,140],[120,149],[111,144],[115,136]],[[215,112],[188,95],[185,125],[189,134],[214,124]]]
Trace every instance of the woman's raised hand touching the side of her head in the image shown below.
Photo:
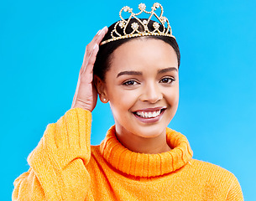
[[[107,27],[102,28],[91,40],[91,43],[86,46],[86,53],[79,72],[76,93],[71,108],[81,107],[87,111],[93,111],[97,104],[97,90],[93,83],[93,66],[99,50],[99,44],[106,33]]]

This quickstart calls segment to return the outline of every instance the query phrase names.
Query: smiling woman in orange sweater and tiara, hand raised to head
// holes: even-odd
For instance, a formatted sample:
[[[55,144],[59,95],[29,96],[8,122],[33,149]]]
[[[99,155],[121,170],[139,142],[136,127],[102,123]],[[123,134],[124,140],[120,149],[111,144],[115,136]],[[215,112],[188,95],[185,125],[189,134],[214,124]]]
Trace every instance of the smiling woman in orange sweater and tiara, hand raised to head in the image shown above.
[[[162,6],[138,8],[122,8],[122,20],[86,46],[72,108],[47,126],[13,200],[243,200],[232,173],[192,159],[185,136],[167,128],[179,102],[180,50],[163,12],[150,21]],[[137,18],[143,12],[150,17]],[[91,146],[97,95],[115,125]]]

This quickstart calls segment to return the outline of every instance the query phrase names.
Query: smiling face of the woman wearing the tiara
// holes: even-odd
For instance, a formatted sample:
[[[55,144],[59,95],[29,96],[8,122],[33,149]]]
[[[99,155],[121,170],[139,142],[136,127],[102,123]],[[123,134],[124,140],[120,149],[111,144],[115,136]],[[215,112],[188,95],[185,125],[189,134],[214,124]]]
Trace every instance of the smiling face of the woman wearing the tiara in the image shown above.
[[[112,53],[103,92],[118,135],[165,135],[179,102],[175,50],[159,39],[138,38],[121,45]]]

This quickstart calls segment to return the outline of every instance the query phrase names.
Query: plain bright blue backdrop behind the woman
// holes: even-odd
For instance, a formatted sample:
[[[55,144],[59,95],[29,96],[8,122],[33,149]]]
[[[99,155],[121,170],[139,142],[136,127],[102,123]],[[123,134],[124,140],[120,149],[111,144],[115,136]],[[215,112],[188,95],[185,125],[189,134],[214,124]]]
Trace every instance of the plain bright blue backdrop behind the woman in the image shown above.
[[[47,124],[71,108],[83,54],[98,29],[140,1],[0,3],[1,200],[26,172]],[[145,3],[145,1],[144,1]],[[154,2],[147,0],[148,9]],[[256,190],[256,1],[159,1],[180,45],[180,106],[170,127],[194,158],[234,173],[245,200]],[[93,111],[91,143],[113,124],[109,106]]]

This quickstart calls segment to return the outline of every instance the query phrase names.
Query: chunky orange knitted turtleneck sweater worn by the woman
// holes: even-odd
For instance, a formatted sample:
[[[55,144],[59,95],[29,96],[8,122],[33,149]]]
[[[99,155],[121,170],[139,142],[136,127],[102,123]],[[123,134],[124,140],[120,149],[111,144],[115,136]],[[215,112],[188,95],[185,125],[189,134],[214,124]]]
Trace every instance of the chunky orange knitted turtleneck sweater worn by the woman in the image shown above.
[[[187,139],[166,129],[170,152],[131,152],[115,127],[90,145],[91,112],[71,109],[47,126],[14,182],[13,200],[243,200],[237,178],[192,159]]]

